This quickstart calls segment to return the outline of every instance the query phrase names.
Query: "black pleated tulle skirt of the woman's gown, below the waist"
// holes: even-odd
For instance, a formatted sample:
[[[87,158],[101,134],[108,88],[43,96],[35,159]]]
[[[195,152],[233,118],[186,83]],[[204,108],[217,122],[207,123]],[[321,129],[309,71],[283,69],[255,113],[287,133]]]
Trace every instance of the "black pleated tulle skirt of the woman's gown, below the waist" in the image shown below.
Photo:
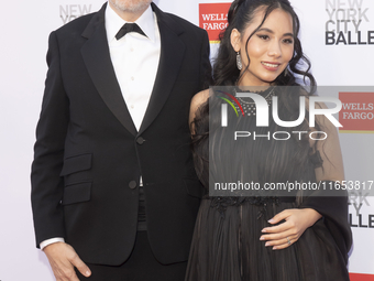
[[[267,220],[296,203],[221,206],[202,199],[186,281],[345,281],[344,259],[323,218],[286,249],[261,241]]]

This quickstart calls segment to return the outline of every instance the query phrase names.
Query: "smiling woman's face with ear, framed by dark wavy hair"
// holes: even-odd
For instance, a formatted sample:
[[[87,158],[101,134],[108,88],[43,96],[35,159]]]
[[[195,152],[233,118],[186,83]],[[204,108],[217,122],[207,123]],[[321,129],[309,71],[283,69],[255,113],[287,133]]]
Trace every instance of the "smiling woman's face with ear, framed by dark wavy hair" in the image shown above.
[[[245,52],[246,40],[261,24],[263,18],[264,10],[260,10],[242,34],[235,29],[231,33],[231,44],[235,52],[241,54],[242,72],[249,64]],[[246,50],[251,62],[239,85],[270,85],[283,73],[294,55],[293,18],[290,14],[282,9],[274,10],[267,15],[261,29],[253,34]]]

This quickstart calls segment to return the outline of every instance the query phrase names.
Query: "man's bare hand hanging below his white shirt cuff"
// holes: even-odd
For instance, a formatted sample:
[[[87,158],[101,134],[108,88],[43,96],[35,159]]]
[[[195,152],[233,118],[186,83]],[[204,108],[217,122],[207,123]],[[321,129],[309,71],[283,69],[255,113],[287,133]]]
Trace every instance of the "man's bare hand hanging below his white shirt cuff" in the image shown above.
[[[85,262],[82,262],[73,247],[68,244],[51,244],[46,246],[43,251],[50,260],[56,281],[79,281],[74,267],[76,267],[85,277],[89,277],[91,274],[89,268],[85,264]]]

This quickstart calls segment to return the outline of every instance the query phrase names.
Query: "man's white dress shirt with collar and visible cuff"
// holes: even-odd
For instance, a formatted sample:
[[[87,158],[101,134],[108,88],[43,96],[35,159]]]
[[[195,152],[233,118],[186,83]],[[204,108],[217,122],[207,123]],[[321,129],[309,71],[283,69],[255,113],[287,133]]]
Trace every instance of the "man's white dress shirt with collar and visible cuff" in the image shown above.
[[[105,17],[110,58],[116,77],[131,118],[139,130],[151,98],[160,62],[161,39],[156,14],[150,6],[135,21],[146,36],[130,32],[120,40],[116,39],[116,34],[125,21],[109,3]],[[51,244],[64,241],[61,237],[51,238],[42,241],[40,247],[43,250]]]

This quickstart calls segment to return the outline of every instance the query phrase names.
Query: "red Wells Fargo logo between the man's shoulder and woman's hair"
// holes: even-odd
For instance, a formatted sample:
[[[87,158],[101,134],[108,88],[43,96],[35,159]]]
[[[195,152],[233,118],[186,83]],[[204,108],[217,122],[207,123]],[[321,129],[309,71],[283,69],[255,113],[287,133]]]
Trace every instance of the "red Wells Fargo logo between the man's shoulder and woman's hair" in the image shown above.
[[[219,43],[219,34],[228,26],[231,3],[199,4],[199,25],[208,32],[210,43]]]

